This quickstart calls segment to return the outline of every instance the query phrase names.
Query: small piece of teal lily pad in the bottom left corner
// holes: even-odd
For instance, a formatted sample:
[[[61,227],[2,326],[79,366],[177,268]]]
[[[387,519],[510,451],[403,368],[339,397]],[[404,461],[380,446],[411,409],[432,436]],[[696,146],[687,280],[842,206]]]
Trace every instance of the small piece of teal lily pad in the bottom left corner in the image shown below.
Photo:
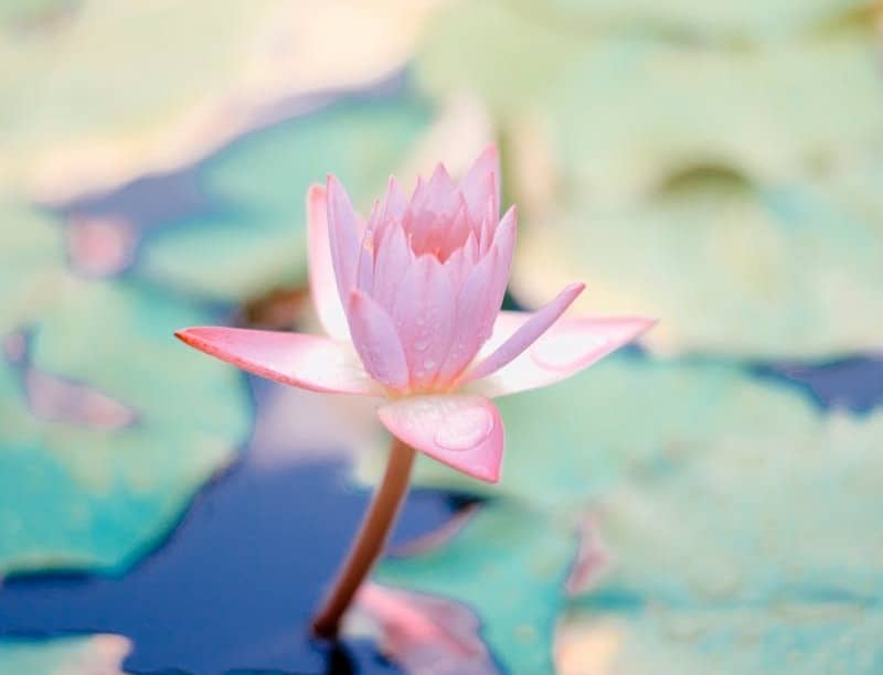
[[[96,675],[121,673],[131,649],[121,635],[52,640],[0,640],[0,675]]]

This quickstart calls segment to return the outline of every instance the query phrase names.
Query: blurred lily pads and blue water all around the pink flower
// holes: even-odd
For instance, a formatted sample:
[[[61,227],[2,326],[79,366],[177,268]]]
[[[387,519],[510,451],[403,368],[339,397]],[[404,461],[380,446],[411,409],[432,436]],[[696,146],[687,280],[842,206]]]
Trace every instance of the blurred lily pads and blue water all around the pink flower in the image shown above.
[[[3,0],[0,673],[883,673],[881,18]],[[313,643],[384,439],[172,331],[311,330],[308,185],[489,142],[507,302],[661,322],[500,401],[498,486],[421,461]]]

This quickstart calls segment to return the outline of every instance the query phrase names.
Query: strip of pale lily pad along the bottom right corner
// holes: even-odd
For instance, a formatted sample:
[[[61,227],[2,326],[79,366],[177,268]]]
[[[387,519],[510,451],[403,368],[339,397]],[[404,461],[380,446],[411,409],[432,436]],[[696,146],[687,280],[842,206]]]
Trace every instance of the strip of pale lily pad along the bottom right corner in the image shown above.
[[[879,607],[837,602],[587,611],[565,619],[556,666],[562,675],[875,675],[883,667],[881,631]]]

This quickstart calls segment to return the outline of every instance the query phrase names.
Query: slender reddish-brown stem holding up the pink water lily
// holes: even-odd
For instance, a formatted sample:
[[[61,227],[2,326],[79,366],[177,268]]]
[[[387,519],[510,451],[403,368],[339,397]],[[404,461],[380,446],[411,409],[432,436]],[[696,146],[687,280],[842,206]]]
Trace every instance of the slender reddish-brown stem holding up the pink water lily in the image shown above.
[[[407,493],[413,463],[414,449],[393,438],[383,482],[371,500],[371,506],[331,592],[312,620],[312,632],[317,636],[331,640],[338,636],[343,613],[371,571],[395,523],[395,516]]]

